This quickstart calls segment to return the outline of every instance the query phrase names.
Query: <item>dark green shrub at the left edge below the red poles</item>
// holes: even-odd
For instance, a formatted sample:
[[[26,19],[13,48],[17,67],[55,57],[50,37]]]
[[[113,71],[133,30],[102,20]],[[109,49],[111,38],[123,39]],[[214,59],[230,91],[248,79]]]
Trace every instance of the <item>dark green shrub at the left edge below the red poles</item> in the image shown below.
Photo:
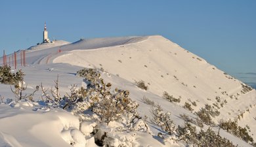
[[[4,65],[0,67],[0,83],[16,84],[23,81],[24,73],[19,69],[16,73],[11,73],[11,67]]]

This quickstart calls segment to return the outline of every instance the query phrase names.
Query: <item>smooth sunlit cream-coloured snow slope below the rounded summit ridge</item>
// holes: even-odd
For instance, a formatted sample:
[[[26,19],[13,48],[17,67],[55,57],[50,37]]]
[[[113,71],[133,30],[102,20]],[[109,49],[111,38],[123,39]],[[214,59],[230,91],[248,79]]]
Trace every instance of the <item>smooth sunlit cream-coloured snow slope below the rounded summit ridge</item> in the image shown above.
[[[242,93],[242,82],[161,36],[142,37],[139,42],[96,50],[74,50],[53,62],[102,67],[130,82],[144,80],[156,95],[167,91],[181,97],[182,104],[189,99],[196,101],[197,106],[192,107],[196,111],[205,104],[216,103],[216,97],[220,97],[227,101],[220,109],[220,119],[228,113],[228,118],[236,118],[250,105],[256,105],[255,90]]]

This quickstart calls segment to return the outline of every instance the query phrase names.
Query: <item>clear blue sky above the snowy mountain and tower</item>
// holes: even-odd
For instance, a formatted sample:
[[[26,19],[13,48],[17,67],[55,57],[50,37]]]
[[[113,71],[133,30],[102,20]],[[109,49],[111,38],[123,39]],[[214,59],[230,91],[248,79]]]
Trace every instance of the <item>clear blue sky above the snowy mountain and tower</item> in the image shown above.
[[[50,39],[162,35],[228,74],[256,85],[255,0],[1,0],[3,49]]]

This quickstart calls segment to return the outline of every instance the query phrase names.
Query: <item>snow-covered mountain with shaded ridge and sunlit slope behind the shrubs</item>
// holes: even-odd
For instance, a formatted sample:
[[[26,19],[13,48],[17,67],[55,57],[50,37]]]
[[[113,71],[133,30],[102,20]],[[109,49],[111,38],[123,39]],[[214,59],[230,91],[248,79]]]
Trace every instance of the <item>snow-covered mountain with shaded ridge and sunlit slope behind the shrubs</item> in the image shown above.
[[[220,112],[213,118],[216,124],[221,120],[238,120],[239,125],[250,128],[250,134],[256,140],[253,136],[256,132],[256,91],[178,44],[159,35],[81,39],[74,43],[62,43],[58,46],[37,46],[26,51],[28,66],[21,68],[31,89],[41,82],[51,88],[56,74],[59,74],[61,92],[65,94],[70,84],[81,83],[81,78],[74,76],[76,71],[82,67],[102,68],[109,73],[102,74],[104,80],[130,91],[131,99],[140,105],[141,116],[151,115],[150,106],[142,102],[142,97],[172,112],[172,119],[179,125],[184,123],[180,114],[196,117],[182,108],[185,103],[192,105],[192,112],[210,105]],[[146,83],[147,91],[135,86],[135,81],[139,80]],[[0,88],[1,95],[11,97],[9,86],[0,84]],[[165,91],[181,99],[181,102],[173,104],[161,98]],[[0,115],[0,118],[3,117]],[[156,127],[152,131],[157,133]],[[249,146],[227,134],[222,131],[221,135],[234,144]]]

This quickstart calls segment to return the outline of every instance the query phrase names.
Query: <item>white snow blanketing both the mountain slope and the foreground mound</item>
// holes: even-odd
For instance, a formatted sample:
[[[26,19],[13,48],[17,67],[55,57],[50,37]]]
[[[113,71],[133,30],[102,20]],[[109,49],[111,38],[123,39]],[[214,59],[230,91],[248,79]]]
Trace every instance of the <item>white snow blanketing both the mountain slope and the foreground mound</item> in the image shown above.
[[[60,93],[64,95],[71,84],[81,85],[82,78],[75,76],[76,71],[83,67],[102,67],[109,73],[102,77],[112,83],[113,88],[130,91],[131,99],[139,103],[140,116],[151,117],[150,106],[142,102],[142,97],[147,97],[171,112],[177,125],[184,124],[180,114],[196,118],[182,108],[185,102],[195,101],[196,106],[192,108],[196,112],[205,104],[213,105],[218,96],[221,102],[226,100],[227,103],[220,106],[221,114],[214,118],[215,123],[221,119],[236,120],[239,114],[244,114],[238,123],[242,127],[248,125],[256,140],[253,136],[256,133],[256,91],[242,93],[242,82],[164,37],[81,39],[71,44],[62,41],[57,46],[41,44],[26,50],[26,63],[26,67],[19,65],[18,68],[26,74],[28,93],[41,83],[51,89],[58,75]],[[144,80],[148,90],[137,88],[135,80]],[[180,97],[181,103],[162,99],[163,91]],[[0,95],[4,100],[15,99],[10,85],[0,84]],[[35,100],[40,97],[41,93],[35,93]],[[0,112],[0,146],[72,146],[72,142],[77,142],[74,146],[96,146],[93,138],[84,137],[94,124],[79,124],[76,116],[60,108],[47,108],[36,102],[2,103]],[[184,146],[181,142],[160,142],[156,137],[160,128],[149,119],[148,123],[154,136],[138,132],[135,140],[141,146]],[[226,131],[221,130],[221,136],[232,140],[233,144],[250,146]]]

